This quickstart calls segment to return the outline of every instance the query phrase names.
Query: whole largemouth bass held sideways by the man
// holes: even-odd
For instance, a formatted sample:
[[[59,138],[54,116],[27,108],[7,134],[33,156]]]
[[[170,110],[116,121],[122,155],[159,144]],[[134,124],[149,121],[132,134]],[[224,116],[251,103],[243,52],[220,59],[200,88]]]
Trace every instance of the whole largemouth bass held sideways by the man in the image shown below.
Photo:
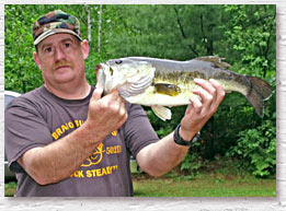
[[[165,120],[171,119],[167,107],[190,104],[192,91],[199,87],[194,79],[215,79],[227,93],[243,94],[263,117],[264,101],[272,95],[272,86],[260,78],[229,71],[229,67],[222,58],[213,56],[188,61],[126,57],[98,65],[96,86],[102,86],[105,93],[117,89],[129,103],[151,106]]]

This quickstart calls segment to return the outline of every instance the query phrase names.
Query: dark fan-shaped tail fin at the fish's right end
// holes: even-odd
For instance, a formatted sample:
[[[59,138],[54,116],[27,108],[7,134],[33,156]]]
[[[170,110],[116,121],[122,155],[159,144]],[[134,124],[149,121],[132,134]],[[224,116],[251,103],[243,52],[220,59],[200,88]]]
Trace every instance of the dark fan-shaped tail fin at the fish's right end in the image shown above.
[[[262,118],[264,112],[264,101],[270,98],[273,87],[265,81],[256,77],[247,77],[250,82],[250,90],[247,98]]]

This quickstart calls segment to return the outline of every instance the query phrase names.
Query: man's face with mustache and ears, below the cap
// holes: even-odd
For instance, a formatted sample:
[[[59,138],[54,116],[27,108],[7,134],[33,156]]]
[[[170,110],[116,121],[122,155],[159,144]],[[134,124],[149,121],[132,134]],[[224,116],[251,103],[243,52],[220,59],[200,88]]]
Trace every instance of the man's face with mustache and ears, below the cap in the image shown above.
[[[88,43],[70,34],[50,35],[37,45],[34,59],[47,85],[73,82],[84,78]]]

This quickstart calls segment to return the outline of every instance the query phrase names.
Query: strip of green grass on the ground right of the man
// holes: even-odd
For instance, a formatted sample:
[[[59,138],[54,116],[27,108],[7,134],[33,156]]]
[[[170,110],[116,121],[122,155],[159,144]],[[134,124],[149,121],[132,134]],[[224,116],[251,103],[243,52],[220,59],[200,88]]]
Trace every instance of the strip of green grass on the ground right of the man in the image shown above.
[[[276,180],[204,173],[199,176],[168,174],[152,178],[134,174],[135,197],[275,197]]]

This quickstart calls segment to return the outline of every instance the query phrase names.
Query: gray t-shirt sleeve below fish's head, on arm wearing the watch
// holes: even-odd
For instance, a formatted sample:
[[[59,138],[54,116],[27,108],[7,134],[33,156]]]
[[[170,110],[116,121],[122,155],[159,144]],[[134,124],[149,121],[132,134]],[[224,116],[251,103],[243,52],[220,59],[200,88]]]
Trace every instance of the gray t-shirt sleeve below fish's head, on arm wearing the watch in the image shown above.
[[[159,140],[146,112],[140,105],[129,104],[128,120],[124,126],[125,141],[130,153],[136,157],[138,152]]]

